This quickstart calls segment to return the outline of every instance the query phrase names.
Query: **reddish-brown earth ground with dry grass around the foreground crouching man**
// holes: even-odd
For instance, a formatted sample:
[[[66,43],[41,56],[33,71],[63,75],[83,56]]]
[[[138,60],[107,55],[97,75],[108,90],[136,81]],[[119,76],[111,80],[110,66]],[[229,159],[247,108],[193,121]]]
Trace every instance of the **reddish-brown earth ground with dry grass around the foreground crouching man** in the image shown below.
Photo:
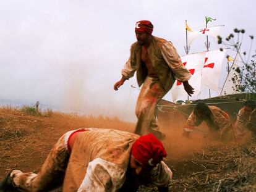
[[[161,113],[160,113],[161,114]],[[168,116],[171,115],[171,116]],[[166,163],[173,170],[171,191],[256,191],[256,140],[219,142],[203,135],[182,136],[181,114],[160,115]],[[77,114],[0,109],[0,179],[11,169],[38,172],[40,165],[66,131],[80,127],[133,131],[135,124],[118,118],[79,117]],[[200,127],[207,130],[205,125]],[[54,190],[61,191],[61,189]],[[139,191],[157,191],[142,186]]]

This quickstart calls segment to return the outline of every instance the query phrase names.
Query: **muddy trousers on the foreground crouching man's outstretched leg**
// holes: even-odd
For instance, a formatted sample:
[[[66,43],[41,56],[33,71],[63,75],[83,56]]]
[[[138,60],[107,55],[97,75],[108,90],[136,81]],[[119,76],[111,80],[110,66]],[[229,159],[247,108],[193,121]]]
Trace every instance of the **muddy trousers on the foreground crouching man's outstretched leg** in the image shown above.
[[[77,130],[68,131],[59,138],[38,174],[13,170],[10,175],[12,185],[17,187],[19,191],[49,191],[62,186],[69,162],[67,140],[75,131]]]

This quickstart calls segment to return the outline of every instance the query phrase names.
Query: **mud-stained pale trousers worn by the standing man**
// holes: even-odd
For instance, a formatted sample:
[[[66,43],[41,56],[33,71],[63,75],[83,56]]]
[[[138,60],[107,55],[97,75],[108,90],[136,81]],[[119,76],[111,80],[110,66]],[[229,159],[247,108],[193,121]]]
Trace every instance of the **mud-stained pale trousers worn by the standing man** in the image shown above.
[[[168,91],[164,90],[158,78],[147,77],[140,90],[136,105],[136,115],[138,118],[135,133],[145,135],[153,133],[159,140],[163,140],[163,134],[157,116],[158,102]]]

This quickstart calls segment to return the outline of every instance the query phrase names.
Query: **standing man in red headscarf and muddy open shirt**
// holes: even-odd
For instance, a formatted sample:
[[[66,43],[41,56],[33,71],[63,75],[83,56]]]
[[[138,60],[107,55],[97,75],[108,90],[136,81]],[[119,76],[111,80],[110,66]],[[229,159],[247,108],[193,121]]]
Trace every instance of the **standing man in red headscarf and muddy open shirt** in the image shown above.
[[[148,20],[141,20],[135,25],[137,42],[130,48],[129,60],[122,69],[122,78],[114,85],[114,90],[137,72],[137,82],[142,86],[137,100],[135,113],[138,118],[135,133],[139,135],[153,133],[163,140],[156,122],[156,104],[171,89],[175,80],[183,83],[187,94],[191,96],[194,88],[189,85],[190,72],[184,67],[181,57],[173,44],[151,35],[153,25]]]

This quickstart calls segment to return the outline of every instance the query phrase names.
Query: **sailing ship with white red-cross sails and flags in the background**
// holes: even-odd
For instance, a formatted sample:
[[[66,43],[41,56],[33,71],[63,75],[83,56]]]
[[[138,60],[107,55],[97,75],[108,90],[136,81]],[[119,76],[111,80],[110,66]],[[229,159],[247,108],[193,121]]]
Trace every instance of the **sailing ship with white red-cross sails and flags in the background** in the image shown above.
[[[176,81],[171,89],[172,102],[162,99],[158,104],[158,119],[164,118],[164,121],[167,120],[167,122],[173,123],[177,115],[181,114],[187,119],[195,104],[203,100],[208,105],[218,106],[228,112],[231,120],[234,121],[236,113],[243,106],[245,99],[256,99],[255,94],[239,94],[234,89],[232,78],[237,73],[237,67],[242,64],[239,54],[233,52],[234,59],[231,59],[228,56],[231,51],[229,49],[209,49],[210,41],[208,41],[208,36],[217,41],[217,36],[220,35],[220,30],[224,26],[208,27],[207,23],[211,20],[215,19],[205,17],[205,27],[196,31],[192,31],[186,21],[186,46],[184,46],[186,55],[182,56],[181,59],[191,73],[189,83],[195,92],[192,94],[192,97],[187,96],[182,83]],[[206,50],[189,54],[190,45],[198,36],[205,36]],[[224,79],[220,81],[221,77],[223,78],[224,64],[227,66],[226,74],[224,74]],[[203,90],[208,90],[208,97],[203,98]],[[211,91],[215,91],[217,96],[211,97]]]

